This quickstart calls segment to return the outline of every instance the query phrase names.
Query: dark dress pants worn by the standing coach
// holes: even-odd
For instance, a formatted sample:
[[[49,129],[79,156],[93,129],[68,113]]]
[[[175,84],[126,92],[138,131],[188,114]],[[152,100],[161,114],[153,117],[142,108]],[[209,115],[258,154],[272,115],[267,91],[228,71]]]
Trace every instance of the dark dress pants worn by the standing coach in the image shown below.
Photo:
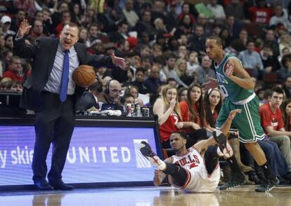
[[[67,95],[65,102],[60,102],[59,95],[51,92],[42,93],[44,107],[36,113],[34,156],[32,160],[33,180],[46,178],[46,156],[53,145],[49,181],[58,181],[62,172],[75,126],[75,108],[73,97]]]

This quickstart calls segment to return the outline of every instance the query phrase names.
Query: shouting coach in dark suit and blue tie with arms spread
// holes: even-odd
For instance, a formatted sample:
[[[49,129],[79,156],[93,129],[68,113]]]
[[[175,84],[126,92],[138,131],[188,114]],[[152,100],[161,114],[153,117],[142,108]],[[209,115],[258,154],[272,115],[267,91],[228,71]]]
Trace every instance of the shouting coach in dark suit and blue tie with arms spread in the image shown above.
[[[32,179],[41,190],[72,190],[72,186],[62,181],[62,171],[75,125],[75,99],[84,91],[72,81],[72,72],[80,64],[124,68],[126,63],[115,55],[101,57],[86,53],[84,44],[77,43],[76,25],[65,25],[60,39],[39,38],[27,45],[25,34],[30,28],[27,20],[21,22],[14,49],[15,55],[33,58],[32,74],[24,83],[20,101],[20,107],[36,111]],[[51,143],[53,156],[47,182],[46,156]]]

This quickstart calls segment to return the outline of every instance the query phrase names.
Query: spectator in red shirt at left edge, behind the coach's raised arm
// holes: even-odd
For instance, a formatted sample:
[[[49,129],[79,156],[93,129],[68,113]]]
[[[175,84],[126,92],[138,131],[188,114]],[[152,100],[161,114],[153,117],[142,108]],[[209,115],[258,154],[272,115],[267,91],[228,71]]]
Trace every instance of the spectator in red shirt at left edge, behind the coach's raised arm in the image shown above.
[[[8,64],[8,70],[3,73],[2,78],[11,78],[12,81],[16,81],[18,83],[22,83],[22,62],[20,57],[13,56],[11,61]]]

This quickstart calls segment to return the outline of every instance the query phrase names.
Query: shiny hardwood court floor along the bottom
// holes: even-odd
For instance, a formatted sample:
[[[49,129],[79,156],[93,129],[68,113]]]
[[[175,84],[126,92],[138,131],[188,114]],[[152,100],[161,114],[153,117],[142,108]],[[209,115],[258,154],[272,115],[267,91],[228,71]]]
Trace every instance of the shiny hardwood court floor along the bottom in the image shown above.
[[[11,191],[0,193],[1,206],[60,205],[291,205],[291,186],[256,193],[254,186],[214,193],[181,193],[169,187],[86,188],[74,191]]]

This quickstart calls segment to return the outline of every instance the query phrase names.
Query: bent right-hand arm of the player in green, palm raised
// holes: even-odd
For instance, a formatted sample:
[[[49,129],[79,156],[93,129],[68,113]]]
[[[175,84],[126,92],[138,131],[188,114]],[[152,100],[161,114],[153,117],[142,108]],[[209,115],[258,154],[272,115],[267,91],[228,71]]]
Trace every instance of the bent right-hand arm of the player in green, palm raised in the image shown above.
[[[239,60],[234,58],[228,60],[226,66],[224,67],[224,71],[228,78],[240,85],[242,88],[247,90],[254,89],[254,80],[250,77],[249,74],[247,74],[247,71],[245,71]]]

